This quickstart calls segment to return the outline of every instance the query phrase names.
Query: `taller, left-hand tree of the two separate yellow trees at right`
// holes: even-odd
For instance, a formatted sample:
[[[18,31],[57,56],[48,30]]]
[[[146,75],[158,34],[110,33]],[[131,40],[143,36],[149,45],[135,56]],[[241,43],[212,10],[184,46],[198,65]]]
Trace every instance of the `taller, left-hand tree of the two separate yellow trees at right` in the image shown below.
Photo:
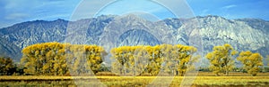
[[[230,44],[221,46],[214,46],[213,51],[207,53],[206,58],[209,59],[211,65],[210,69],[213,73],[219,75],[223,73],[229,75],[230,70],[234,67],[234,60],[232,57],[237,54]]]

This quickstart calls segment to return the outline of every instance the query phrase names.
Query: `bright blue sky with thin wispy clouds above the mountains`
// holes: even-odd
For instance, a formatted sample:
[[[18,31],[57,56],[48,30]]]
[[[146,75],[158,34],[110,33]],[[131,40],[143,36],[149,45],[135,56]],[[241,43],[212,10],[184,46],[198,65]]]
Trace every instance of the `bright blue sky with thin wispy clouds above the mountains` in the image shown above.
[[[0,0],[0,28],[29,20],[79,20],[100,14],[148,13],[158,19],[175,17],[169,8],[145,0]],[[164,0],[162,0],[164,1]],[[179,0],[183,1],[183,0]],[[186,0],[195,16],[218,15],[227,19],[269,20],[267,0]],[[166,0],[166,5],[174,4]],[[81,8],[81,4],[84,4]],[[106,5],[107,6],[104,6]],[[78,8],[80,8],[78,10]],[[101,9],[101,10],[100,10]],[[180,8],[184,10],[184,8]],[[99,11],[99,12],[98,12]],[[74,12],[80,15],[73,17]],[[142,14],[143,15],[143,14]],[[72,18],[72,19],[71,19]]]

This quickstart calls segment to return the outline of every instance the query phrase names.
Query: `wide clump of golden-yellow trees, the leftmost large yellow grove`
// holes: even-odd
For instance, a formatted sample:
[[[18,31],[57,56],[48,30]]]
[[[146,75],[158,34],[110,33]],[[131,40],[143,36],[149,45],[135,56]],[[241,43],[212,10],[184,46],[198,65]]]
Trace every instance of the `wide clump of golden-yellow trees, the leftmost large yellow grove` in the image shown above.
[[[22,50],[24,72],[32,75],[66,75],[97,73],[107,53],[96,45],[45,43]]]

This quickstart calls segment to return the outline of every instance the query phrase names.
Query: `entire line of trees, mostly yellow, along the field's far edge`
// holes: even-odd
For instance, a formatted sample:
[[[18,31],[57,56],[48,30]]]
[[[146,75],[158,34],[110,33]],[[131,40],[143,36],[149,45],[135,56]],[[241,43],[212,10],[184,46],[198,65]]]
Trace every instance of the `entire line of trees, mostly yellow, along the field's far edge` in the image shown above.
[[[117,75],[158,75],[161,71],[185,75],[187,70],[194,70],[194,63],[201,58],[196,51],[194,46],[181,44],[121,46],[110,51],[113,62],[109,70]],[[22,54],[20,64],[13,64],[10,58],[1,58],[1,75],[92,75],[108,71],[102,65],[108,52],[97,45],[33,44],[24,48]],[[205,58],[211,63],[209,70],[216,75],[229,75],[236,68],[234,59],[238,59],[244,71],[251,75],[256,75],[264,66],[259,53],[239,53],[230,44],[213,47]]]

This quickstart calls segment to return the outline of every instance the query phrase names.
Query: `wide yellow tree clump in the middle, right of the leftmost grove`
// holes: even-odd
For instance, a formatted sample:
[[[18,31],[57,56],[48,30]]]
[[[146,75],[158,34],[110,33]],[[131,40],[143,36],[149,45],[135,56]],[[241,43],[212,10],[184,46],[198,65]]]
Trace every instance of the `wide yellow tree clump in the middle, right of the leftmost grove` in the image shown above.
[[[158,75],[161,70],[169,74],[184,75],[187,65],[199,57],[194,57],[195,51],[195,47],[181,44],[122,46],[111,50],[112,59],[116,59],[112,70],[117,75]]]

